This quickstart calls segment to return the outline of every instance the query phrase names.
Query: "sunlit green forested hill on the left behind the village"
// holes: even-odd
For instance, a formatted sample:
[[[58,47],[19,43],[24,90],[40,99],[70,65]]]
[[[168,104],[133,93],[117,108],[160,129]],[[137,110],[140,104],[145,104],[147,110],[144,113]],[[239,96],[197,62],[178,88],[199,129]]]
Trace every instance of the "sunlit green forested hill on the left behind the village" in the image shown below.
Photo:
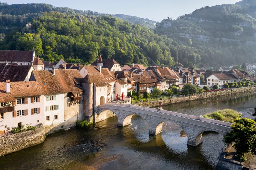
[[[84,15],[83,11],[48,4],[0,6],[0,49],[32,50],[44,60],[92,63],[99,57],[120,64],[172,66],[171,38],[113,16]],[[40,12],[49,11],[49,12]],[[39,12],[39,13],[37,13]]]

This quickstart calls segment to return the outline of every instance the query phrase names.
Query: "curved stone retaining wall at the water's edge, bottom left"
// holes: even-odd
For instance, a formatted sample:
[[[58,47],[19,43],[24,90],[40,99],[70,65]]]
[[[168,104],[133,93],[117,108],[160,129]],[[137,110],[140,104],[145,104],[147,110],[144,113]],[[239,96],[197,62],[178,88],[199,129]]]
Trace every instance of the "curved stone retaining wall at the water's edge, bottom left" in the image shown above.
[[[44,127],[0,137],[0,156],[40,144],[45,140]]]

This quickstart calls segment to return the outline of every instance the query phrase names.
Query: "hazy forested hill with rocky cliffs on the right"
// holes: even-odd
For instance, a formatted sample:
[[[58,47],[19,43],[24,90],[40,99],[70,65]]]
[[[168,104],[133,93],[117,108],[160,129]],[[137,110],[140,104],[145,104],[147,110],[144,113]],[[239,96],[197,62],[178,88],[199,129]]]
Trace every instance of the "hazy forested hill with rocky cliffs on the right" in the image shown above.
[[[229,65],[256,62],[256,1],[206,6],[176,20],[157,24],[156,33],[172,37],[178,46],[193,50],[201,62]],[[181,51],[179,61],[195,63]],[[172,57],[176,57],[172,54]]]

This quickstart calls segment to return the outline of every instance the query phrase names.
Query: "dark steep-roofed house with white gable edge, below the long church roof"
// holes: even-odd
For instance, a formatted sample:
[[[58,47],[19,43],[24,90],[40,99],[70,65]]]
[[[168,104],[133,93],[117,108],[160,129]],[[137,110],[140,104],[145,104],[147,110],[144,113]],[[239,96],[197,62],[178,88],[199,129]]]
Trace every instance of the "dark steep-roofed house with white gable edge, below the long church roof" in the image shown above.
[[[0,63],[0,82],[29,81],[34,67],[32,65],[17,65],[17,63]]]

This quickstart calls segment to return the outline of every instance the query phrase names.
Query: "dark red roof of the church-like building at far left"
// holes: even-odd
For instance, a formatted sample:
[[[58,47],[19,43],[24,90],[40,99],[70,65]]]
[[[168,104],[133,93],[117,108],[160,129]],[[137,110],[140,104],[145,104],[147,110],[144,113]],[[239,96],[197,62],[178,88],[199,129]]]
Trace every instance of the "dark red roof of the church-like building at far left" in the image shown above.
[[[34,51],[0,50],[0,61],[27,61],[33,60]]]

